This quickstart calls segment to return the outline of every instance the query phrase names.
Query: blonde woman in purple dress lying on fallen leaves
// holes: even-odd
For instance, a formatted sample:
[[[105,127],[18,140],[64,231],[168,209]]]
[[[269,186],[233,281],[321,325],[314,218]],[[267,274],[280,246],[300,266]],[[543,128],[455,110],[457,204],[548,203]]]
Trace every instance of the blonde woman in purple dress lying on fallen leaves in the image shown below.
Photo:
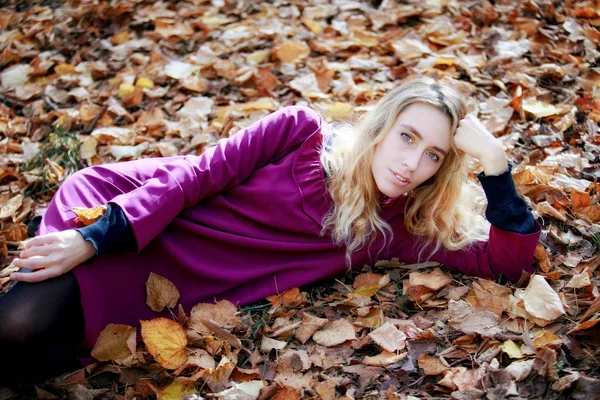
[[[0,354],[53,366],[40,377],[72,368],[108,323],[157,316],[145,304],[150,272],[178,287],[185,310],[222,298],[247,304],[391,257],[516,281],[531,272],[539,225],[501,143],[465,117],[461,96],[418,78],[351,133],[287,107],[200,156],[76,173],[14,261],[32,272],[14,273],[21,282],[0,299]],[[489,238],[465,154],[483,166]],[[74,222],[72,207],[106,203],[95,224]]]

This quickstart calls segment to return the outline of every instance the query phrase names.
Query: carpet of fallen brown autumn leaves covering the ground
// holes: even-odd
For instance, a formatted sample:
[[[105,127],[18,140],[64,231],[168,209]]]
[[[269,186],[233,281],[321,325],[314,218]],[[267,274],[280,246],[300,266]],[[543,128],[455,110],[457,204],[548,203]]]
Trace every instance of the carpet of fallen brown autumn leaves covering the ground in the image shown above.
[[[354,120],[415,73],[457,81],[504,142],[544,228],[535,274],[389,260],[192,310],[151,274],[172,319],[107,326],[84,370],[0,398],[597,398],[600,3],[379,3],[1,1],[0,290],[77,169],[199,154],[290,104]]]

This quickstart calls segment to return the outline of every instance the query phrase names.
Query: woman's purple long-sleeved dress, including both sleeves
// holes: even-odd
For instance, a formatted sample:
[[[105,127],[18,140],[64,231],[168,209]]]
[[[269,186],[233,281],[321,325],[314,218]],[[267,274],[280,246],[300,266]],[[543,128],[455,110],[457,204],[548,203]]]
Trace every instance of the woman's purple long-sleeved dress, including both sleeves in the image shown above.
[[[150,272],[170,279],[189,312],[199,302],[248,304],[342,274],[345,247],[320,236],[332,206],[319,161],[329,126],[313,110],[287,107],[200,156],[152,158],[86,168],[54,196],[39,234],[75,227],[71,207],[116,203],[135,234],[138,253],[102,255],[73,270],[85,315],[84,348],[109,323],[139,326],[159,316],[145,304]],[[382,205],[394,241],[382,238],[353,255],[361,267],[398,257],[418,262],[416,238],[403,227],[404,198]],[[539,232],[492,227],[488,242],[438,251],[451,271],[516,280],[532,271]],[[423,260],[420,260],[423,261]],[[168,312],[163,312],[168,316]]]

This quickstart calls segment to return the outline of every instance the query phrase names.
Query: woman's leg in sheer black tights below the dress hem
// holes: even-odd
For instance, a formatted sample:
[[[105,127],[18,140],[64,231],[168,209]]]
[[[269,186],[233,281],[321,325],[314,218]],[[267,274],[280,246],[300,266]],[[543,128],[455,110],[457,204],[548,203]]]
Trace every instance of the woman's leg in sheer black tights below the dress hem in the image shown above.
[[[71,272],[18,282],[0,297],[0,387],[34,383],[81,368],[84,319]]]

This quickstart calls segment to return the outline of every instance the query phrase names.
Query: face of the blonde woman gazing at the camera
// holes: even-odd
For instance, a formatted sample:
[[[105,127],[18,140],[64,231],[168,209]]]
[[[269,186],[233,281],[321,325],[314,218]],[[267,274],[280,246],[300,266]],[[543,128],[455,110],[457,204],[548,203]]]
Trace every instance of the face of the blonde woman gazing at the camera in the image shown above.
[[[431,178],[451,151],[451,128],[436,107],[407,106],[375,148],[371,170],[379,191],[398,197]]]

